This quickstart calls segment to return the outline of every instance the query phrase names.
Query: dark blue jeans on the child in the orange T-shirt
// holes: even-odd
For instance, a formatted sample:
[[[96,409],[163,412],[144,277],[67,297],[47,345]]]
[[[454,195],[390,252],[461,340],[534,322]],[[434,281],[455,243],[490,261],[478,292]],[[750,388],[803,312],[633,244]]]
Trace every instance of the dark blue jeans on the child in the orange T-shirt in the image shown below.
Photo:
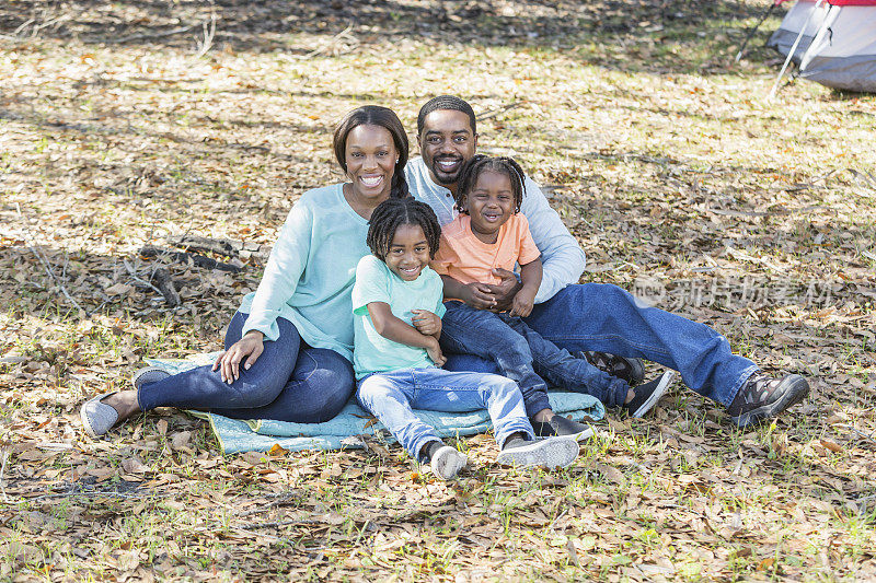
[[[630,386],[624,381],[549,342],[521,318],[475,310],[456,300],[445,306],[441,349],[495,362],[499,374],[520,386],[530,417],[551,407],[545,380],[566,390],[592,395],[609,407],[626,399]]]

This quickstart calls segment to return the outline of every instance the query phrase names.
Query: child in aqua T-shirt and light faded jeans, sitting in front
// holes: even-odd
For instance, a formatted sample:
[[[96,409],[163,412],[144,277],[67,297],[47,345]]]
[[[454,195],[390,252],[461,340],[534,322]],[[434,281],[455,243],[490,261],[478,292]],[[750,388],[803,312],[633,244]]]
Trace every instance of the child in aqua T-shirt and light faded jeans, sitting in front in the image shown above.
[[[373,255],[359,261],[353,287],[353,366],[359,403],[412,456],[429,463],[446,480],[456,477],[468,458],[446,445],[412,408],[486,408],[502,448],[496,462],[569,465],[578,455],[577,442],[534,440],[514,381],[440,369],[442,284],[429,269],[440,231],[435,212],[413,198],[387,200],[371,214],[366,241]]]

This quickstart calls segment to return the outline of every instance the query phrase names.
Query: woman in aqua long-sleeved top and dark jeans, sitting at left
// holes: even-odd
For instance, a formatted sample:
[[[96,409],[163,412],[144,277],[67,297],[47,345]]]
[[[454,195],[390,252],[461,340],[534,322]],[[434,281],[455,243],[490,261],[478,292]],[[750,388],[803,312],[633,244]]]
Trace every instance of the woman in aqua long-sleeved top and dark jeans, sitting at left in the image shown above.
[[[355,389],[350,290],[371,211],[407,196],[407,136],[399,117],[368,105],[334,132],[349,182],[304,193],[292,207],[254,294],[244,298],[212,366],[176,375],[147,368],[134,389],[107,393],[80,411],[89,435],[155,407],[238,419],[316,423],[333,418]]]

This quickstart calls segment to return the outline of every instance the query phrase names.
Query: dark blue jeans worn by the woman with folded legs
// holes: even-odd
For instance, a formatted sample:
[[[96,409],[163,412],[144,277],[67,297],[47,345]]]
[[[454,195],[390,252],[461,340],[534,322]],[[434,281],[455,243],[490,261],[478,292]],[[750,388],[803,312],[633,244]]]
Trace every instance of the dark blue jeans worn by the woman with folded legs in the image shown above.
[[[240,340],[246,314],[238,312],[226,333],[226,350]],[[140,387],[140,409],[176,407],[211,411],[234,419],[275,419],[319,423],[336,416],[355,389],[350,362],[325,348],[311,348],[295,325],[277,318],[280,337],[240,377],[223,383],[212,366],[198,366]]]

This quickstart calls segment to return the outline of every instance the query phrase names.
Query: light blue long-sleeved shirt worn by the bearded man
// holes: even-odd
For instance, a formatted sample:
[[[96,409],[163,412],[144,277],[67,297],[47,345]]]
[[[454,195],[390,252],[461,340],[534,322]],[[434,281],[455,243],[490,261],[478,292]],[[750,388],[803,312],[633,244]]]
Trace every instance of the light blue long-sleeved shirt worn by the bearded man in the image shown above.
[[[459,212],[453,208],[453,195],[448,188],[433,182],[422,158],[410,161],[404,173],[411,195],[431,207],[442,226],[456,219]],[[542,303],[569,283],[578,282],[584,273],[586,258],[578,242],[548,203],[539,185],[529,176],[523,185],[527,191],[520,212],[529,221],[529,231],[541,252],[544,266],[539,293],[535,294],[535,303]]]

